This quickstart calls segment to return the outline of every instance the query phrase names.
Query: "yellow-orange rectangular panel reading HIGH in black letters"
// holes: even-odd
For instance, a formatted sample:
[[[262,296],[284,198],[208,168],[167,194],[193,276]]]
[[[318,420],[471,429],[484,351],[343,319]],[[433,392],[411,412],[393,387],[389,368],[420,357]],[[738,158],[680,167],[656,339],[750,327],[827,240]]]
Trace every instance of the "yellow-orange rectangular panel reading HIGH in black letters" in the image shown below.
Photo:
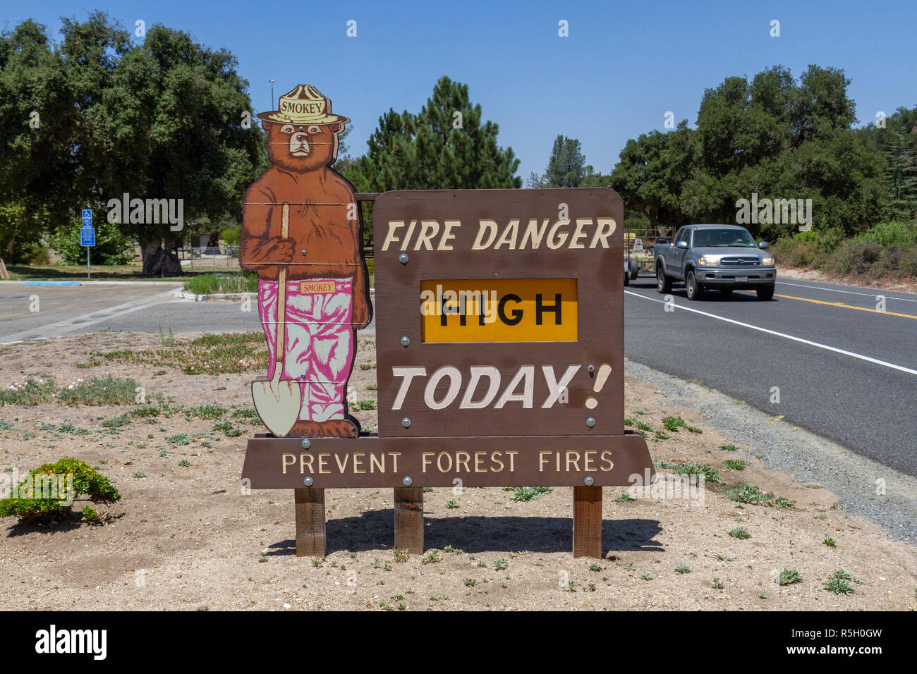
[[[420,283],[425,342],[575,342],[577,310],[576,279]]]

